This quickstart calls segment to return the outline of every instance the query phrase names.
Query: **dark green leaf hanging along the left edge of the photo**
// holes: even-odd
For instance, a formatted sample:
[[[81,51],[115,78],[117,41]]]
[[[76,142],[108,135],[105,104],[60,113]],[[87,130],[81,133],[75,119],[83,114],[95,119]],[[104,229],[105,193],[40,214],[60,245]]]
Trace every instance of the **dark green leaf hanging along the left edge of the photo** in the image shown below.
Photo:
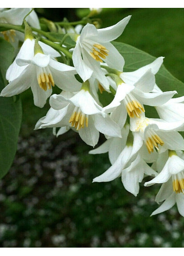
[[[6,70],[14,57],[14,48],[0,38],[0,90],[6,86]],[[17,150],[21,125],[19,97],[0,97],[0,179],[8,172]]]

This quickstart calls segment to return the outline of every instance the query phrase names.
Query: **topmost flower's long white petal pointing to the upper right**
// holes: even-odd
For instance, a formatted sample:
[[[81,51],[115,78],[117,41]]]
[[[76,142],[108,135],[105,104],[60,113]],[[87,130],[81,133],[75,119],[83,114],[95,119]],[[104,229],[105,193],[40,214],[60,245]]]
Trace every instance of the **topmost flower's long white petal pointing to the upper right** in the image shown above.
[[[130,18],[131,18],[131,16],[129,15],[111,27],[97,29],[98,41],[99,42],[110,42],[110,41],[113,41],[116,38],[118,38],[124,31]]]

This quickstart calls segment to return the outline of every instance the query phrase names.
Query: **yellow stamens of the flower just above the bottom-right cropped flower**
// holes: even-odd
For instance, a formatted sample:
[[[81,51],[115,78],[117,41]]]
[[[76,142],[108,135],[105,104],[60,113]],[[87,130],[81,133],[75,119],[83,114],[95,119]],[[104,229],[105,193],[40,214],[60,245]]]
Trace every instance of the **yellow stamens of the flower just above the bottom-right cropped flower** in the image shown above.
[[[147,131],[146,134],[146,140],[145,140],[146,147],[148,149],[148,152],[153,152],[154,147],[158,149],[158,144],[163,146],[164,142],[162,139],[156,134],[156,132],[153,129],[150,129]]]

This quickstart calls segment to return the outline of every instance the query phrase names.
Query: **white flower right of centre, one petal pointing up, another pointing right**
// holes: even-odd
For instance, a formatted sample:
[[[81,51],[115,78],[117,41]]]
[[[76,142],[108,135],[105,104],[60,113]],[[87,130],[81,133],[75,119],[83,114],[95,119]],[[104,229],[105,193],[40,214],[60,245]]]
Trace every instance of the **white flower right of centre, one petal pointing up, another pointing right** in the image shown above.
[[[155,85],[155,76],[151,70],[146,71],[141,78],[133,84],[121,83],[117,86],[117,91],[113,101],[104,107],[105,113],[113,112],[113,119],[119,115],[122,126],[125,124],[127,113],[133,117],[140,117],[144,113],[143,104],[157,106],[167,102],[176,91],[152,93]]]

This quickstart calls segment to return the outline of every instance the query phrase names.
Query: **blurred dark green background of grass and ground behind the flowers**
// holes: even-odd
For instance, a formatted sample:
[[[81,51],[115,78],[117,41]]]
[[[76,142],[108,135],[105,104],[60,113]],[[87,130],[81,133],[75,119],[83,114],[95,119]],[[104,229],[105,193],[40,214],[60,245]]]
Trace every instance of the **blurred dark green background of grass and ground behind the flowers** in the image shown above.
[[[38,8],[39,17],[79,20],[88,9]],[[117,39],[154,57],[184,81],[184,9],[104,8],[101,27],[132,15]],[[174,89],[174,88],[173,88]],[[16,158],[0,181],[1,247],[183,247],[184,219],[177,208],[157,216],[154,202],[160,186],[140,186],[134,197],[120,179],[92,183],[109,166],[107,154],[89,155],[87,146],[69,131],[55,138],[52,129],[34,131],[49,108],[22,98],[22,128]],[[101,144],[104,137],[100,137]],[[148,179],[149,180],[149,179]],[[146,181],[146,179],[144,179]]]

